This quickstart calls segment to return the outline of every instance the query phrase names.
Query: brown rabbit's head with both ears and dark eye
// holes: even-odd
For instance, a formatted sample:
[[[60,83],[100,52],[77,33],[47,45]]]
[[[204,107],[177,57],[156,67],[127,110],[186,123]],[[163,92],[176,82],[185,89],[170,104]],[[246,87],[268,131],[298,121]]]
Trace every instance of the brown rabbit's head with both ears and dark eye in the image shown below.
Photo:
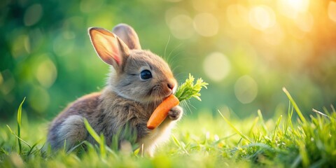
[[[113,34],[114,33],[114,34]],[[132,27],[90,28],[89,34],[99,57],[113,67],[109,88],[121,97],[141,103],[160,102],[177,87],[169,65],[149,50],[141,50]]]

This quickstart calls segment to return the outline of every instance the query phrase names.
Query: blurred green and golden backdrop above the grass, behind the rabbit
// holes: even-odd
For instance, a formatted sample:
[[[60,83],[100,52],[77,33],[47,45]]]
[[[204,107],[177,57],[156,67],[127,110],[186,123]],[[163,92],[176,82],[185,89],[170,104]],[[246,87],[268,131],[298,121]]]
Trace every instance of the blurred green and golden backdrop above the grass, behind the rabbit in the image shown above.
[[[336,1],[1,0],[0,120],[14,118],[24,97],[29,118],[51,120],[101,90],[109,66],[87,28],[120,22],[180,83],[188,73],[209,83],[188,118],[218,109],[271,117],[288,108],[282,87],[307,113],[336,105]]]

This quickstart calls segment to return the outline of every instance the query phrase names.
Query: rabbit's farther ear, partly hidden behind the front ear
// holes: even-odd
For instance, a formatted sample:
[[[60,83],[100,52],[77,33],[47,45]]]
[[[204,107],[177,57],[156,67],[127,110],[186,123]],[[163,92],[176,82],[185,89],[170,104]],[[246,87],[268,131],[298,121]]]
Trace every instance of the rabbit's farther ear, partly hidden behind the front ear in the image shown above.
[[[131,50],[141,49],[138,34],[129,25],[124,23],[116,25],[116,27],[113,28],[113,33],[121,38]]]

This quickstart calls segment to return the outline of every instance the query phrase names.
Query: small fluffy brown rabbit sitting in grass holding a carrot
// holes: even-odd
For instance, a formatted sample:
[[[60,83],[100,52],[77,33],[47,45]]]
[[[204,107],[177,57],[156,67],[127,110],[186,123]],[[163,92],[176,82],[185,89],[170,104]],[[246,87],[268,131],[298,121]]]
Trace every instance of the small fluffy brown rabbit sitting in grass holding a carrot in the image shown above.
[[[113,34],[114,33],[114,34]],[[120,24],[113,29],[90,28],[92,45],[99,57],[113,69],[102,92],[80,97],[59,113],[48,132],[51,148],[64,146],[69,149],[80,141],[94,139],[87,133],[83,118],[86,118],[97,133],[104,134],[106,144],[118,132],[118,142],[127,135],[135,134],[141,152],[153,155],[155,146],[167,139],[170,130],[183,115],[180,106],[169,111],[169,117],[155,130],[148,130],[146,123],[154,109],[165,97],[173,94],[177,83],[168,64],[149,50],[141,50],[134,29]]]

